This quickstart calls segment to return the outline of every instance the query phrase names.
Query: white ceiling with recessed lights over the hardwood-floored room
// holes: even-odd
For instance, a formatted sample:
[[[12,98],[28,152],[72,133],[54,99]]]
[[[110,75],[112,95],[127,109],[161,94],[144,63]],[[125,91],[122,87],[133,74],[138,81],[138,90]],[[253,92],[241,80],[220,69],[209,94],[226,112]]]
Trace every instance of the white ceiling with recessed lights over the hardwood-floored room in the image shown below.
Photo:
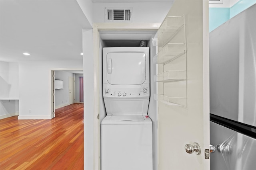
[[[88,27],[76,0],[0,0],[0,61],[82,60]]]

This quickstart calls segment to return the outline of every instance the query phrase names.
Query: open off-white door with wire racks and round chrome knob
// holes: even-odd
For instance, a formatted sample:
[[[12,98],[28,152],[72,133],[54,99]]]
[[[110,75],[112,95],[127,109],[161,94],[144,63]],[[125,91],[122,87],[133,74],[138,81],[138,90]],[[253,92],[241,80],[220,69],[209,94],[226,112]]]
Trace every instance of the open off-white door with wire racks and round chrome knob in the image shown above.
[[[208,35],[208,1],[176,0],[153,40],[159,170],[210,169]]]

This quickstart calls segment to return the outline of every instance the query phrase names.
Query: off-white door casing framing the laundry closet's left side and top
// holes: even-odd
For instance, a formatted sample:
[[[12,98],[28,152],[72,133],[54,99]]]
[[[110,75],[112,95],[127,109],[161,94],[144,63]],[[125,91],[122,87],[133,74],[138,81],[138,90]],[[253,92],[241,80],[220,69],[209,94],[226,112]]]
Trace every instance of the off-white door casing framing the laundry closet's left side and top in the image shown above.
[[[100,162],[100,86],[99,86],[99,31],[157,31],[161,23],[94,23],[93,63],[94,65],[94,169],[101,169]]]

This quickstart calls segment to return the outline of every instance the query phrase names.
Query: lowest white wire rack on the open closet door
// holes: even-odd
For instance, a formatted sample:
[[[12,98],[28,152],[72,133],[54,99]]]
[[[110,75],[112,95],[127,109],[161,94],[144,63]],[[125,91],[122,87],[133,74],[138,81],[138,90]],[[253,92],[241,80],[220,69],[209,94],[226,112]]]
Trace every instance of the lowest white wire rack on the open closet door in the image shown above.
[[[162,94],[154,94],[154,100],[162,102],[164,104],[170,106],[187,106],[187,99],[186,98],[176,98],[176,97],[168,97]]]

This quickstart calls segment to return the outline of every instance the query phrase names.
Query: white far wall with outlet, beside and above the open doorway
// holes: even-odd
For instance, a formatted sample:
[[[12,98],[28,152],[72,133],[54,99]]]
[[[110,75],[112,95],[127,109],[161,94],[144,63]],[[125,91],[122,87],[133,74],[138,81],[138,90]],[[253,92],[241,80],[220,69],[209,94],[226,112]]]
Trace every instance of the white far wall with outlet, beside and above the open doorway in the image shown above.
[[[18,119],[51,119],[51,70],[82,70],[82,67],[81,60],[20,61]]]

